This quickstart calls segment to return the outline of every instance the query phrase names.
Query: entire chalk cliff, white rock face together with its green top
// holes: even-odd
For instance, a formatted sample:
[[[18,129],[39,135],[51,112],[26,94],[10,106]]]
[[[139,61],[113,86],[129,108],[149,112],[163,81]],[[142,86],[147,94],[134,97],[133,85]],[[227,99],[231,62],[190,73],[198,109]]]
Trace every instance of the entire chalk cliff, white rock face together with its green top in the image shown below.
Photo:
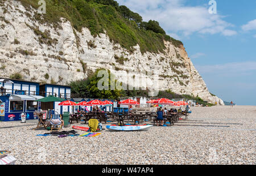
[[[138,19],[127,19],[116,5],[92,1],[80,5],[77,0],[72,2],[72,8],[81,8],[74,14],[81,22],[85,20],[86,25],[74,22],[74,16],[65,14],[55,16],[58,20],[53,23],[49,14],[37,13],[35,2],[0,0],[1,77],[9,78],[18,72],[28,81],[68,84],[86,78],[97,68],[112,70],[115,66],[117,76],[130,70],[158,70],[160,90],[198,95],[205,101],[224,105],[220,98],[210,95],[182,42],[165,35],[156,22],[144,23],[138,16]],[[58,1],[46,2],[56,3],[47,9],[68,6]],[[86,11],[82,14],[81,10],[84,8],[94,16],[84,19],[82,15],[86,16]],[[113,23],[112,18],[119,20]],[[159,29],[159,33],[148,28]]]

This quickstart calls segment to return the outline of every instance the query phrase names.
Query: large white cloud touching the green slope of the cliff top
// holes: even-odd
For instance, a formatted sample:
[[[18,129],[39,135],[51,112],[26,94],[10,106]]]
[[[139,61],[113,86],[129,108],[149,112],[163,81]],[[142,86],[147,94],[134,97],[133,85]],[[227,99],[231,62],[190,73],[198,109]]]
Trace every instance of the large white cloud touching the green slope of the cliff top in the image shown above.
[[[157,20],[167,33],[181,32],[233,36],[237,32],[229,29],[233,24],[225,22],[224,16],[209,14],[210,6],[185,6],[185,0],[117,0],[132,11],[142,15],[144,21]]]

